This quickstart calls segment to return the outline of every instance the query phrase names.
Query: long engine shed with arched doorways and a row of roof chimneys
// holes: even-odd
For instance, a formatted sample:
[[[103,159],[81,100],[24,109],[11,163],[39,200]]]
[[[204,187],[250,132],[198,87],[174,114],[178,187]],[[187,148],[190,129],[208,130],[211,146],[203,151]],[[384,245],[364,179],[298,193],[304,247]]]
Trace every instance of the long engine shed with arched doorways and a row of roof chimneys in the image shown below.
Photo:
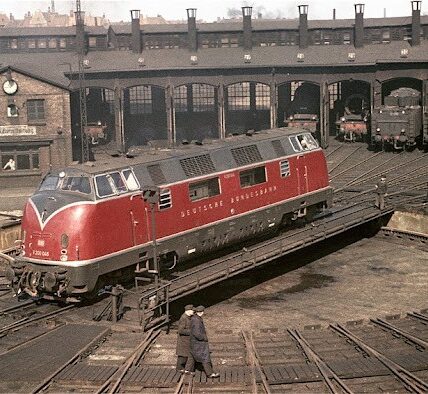
[[[58,119],[50,129],[71,148],[50,144],[58,158],[51,166],[69,162],[70,150],[80,160],[79,50],[87,121],[104,130],[91,141],[95,153],[280,127],[299,105],[318,116],[317,136],[327,146],[351,94],[364,96],[370,110],[394,89],[417,89],[428,128],[428,16],[421,1],[410,5],[409,16],[394,18],[364,18],[364,4],[355,4],[355,19],[309,20],[300,5],[295,20],[253,19],[252,8],[242,7],[242,20],[197,23],[191,8],[187,24],[140,25],[132,10],[131,23],[108,29],[1,28],[0,62],[69,97],[64,132],[53,132]],[[1,108],[0,125],[9,125]]]

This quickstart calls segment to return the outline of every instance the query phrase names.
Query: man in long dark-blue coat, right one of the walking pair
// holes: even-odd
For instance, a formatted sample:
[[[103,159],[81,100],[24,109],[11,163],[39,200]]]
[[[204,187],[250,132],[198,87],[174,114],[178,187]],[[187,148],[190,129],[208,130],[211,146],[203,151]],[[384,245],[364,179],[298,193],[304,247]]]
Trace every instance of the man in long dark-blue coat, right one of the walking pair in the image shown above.
[[[208,337],[205,331],[202,315],[205,308],[198,306],[195,308],[195,314],[190,320],[190,354],[187,359],[186,372],[192,373],[195,369],[195,362],[202,364],[205,374],[210,378],[218,378],[220,375],[213,372],[211,364],[210,348],[208,345]]]

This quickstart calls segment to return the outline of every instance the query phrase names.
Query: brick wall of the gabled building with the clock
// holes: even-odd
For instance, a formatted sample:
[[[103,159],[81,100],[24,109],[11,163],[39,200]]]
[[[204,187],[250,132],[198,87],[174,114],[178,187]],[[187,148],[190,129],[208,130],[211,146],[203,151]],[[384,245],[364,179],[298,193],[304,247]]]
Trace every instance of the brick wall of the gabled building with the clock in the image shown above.
[[[13,70],[10,76],[18,84],[14,95],[3,91],[7,74],[0,74],[0,151],[32,144],[39,148],[39,168],[17,165],[15,171],[5,171],[2,165],[0,187],[33,186],[51,167],[62,168],[72,160],[69,91]],[[44,119],[28,119],[28,100],[44,100]],[[17,107],[18,116],[8,116],[9,105]]]

